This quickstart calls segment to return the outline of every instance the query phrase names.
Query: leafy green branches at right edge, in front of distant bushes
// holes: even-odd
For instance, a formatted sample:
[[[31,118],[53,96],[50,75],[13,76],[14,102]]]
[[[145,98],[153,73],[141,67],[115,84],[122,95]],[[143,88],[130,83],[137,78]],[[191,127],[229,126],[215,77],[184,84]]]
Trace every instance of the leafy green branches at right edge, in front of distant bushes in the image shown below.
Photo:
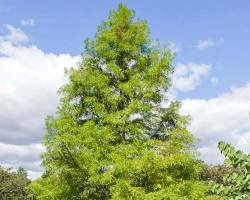
[[[223,177],[223,184],[214,184],[212,192],[225,195],[233,200],[250,199],[250,155],[235,150],[231,145],[219,142],[221,153],[226,157],[227,165],[237,168],[234,173]]]

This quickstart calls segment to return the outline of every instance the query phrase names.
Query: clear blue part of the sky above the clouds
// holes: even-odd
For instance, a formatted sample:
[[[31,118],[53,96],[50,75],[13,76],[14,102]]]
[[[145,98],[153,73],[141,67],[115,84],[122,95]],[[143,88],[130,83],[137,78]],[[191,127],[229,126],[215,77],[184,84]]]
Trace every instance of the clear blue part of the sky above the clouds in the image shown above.
[[[121,1],[13,1],[2,0],[0,24],[20,26],[20,19],[32,18],[35,26],[23,29],[31,41],[45,52],[83,51],[83,40],[93,38],[96,26]],[[211,97],[248,80],[250,58],[249,1],[123,1],[146,19],[153,40],[176,43],[176,62],[204,62],[220,84],[210,87],[204,81],[195,92],[180,97]],[[198,40],[223,40],[216,48],[200,51],[192,46]],[[205,87],[205,88],[204,88]],[[206,91],[205,91],[205,90]]]

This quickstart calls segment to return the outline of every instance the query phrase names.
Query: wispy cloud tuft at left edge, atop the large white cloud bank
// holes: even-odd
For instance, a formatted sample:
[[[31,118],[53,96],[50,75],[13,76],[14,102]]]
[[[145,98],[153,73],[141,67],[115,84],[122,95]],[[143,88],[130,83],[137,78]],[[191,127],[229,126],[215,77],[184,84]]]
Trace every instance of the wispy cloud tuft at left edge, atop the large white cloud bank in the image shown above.
[[[18,28],[15,28],[9,24],[5,24],[4,27],[7,29],[8,34],[0,36],[0,42],[8,41],[12,44],[20,44],[28,41],[28,36]]]

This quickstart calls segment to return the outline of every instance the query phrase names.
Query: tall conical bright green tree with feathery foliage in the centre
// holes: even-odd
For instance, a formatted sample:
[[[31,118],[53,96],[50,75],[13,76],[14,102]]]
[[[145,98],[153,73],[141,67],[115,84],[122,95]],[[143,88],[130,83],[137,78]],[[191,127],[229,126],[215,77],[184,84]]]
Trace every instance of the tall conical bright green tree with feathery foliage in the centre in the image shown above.
[[[110,13],[46,120],[38,199],[200,199],[188,118],[164,98],[172,60],[133,11]]]

